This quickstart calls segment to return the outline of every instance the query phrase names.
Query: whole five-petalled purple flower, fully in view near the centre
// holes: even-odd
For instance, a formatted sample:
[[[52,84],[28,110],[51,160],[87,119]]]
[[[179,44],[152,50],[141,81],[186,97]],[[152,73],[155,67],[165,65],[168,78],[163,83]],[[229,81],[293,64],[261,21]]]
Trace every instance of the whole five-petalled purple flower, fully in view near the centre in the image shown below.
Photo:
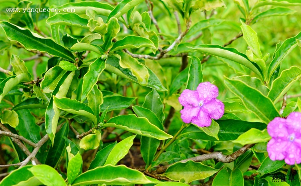
[[[197,90],[184,90],[179,97],[184,106],[180,111],[182,120],[200,127],[210,126],[211,119],[219,119],[224,114],[225,106],[217,96],[218,88],[209,82],[200,83]]]

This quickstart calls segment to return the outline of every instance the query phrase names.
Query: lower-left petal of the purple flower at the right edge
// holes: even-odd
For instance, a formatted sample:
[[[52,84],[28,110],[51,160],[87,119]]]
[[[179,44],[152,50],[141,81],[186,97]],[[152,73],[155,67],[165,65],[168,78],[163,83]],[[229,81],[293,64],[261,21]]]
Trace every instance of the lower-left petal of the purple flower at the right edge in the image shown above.
[[[283,160],[286,155],[288,141],[272,138],[266,146],[268,156],[271,160]]]

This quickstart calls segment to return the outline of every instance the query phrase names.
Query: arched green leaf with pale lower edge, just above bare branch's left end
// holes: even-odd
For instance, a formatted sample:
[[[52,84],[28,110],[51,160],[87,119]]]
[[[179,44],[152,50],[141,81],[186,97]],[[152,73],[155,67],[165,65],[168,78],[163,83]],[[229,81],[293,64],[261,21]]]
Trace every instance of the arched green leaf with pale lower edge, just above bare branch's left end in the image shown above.
[[[126,36],[122,40],[115,42],[111,48],[111,52],[122,49],[150,47],[156,48],[154,43],[147,38],[140,36]]]

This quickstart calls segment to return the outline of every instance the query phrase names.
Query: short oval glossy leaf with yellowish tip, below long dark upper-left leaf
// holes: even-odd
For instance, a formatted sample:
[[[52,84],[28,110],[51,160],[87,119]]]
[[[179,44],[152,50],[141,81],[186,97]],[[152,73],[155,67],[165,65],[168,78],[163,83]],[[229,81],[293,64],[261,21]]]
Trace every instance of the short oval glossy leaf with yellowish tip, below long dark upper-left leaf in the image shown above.
[[[54,66],[49,69],[45,75],[44,79],[41,82],[41,89],[44,93],[53,92],[56,88],[58,82],[66,74],[66,71],[60,68],[59,66]]]

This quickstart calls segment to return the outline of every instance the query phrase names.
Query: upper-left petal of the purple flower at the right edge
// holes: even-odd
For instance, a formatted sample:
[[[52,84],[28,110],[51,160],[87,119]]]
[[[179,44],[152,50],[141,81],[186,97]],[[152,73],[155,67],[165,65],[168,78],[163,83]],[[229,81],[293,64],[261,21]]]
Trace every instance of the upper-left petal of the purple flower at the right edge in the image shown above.
[[[267,132],[271,137],[287,139],[286,120],[284,118],[275,117],[269,124],[267,125]]]

